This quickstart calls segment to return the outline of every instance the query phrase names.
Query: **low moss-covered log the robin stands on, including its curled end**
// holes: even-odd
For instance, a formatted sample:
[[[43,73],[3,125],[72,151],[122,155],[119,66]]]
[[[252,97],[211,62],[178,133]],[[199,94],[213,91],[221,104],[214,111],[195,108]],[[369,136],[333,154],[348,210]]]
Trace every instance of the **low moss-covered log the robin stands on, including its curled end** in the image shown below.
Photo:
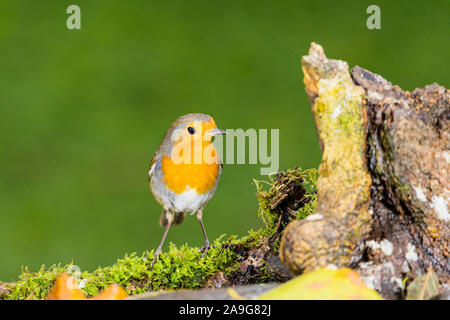
[[[0,282],[0,300],[44,299],[62,274],[76,279],[81,292],[75,294],[83,298],[98,297],[113,283],[120,285],[129,296],[151,292],[145,296],[148,298],[165,290],[241,287],[286,281],[292,275],[278,256],[280,234],[290,221],[302,219],[314,211],[316,176],[315,169],[295,168],[271,176],[269,181],[255,181],[260,205],[258,214],[266,228],[250,230],[243,237],[223,235],[213,241],[214,246],[201,259],[198,248],[171,244],[155,264],[152,264],[154,251],[150,251],[142,255],[127,254],[114,265],[93,272],[80,272],[73,264],[42,266],[34,272],[25,268],[18,281]],[[244,297],[251,297],[261,292],[262,287],[248,288],[237,291]],[[200,293],[179,292],[180,297],[200,297]],[[207,296],[211,294],[211,290],[202,292]],[[219,290],[211,296],[222,297],[226,292]]]

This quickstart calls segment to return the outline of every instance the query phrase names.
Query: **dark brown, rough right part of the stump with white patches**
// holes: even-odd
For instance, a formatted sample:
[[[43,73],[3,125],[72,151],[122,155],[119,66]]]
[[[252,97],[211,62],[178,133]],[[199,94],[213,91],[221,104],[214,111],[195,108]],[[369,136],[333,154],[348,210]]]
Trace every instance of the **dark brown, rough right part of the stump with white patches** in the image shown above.
[[[406,285],[430,268],[448,290],[450,92],[438,84],[403,91],[360,67],[352,76],[366,90],[374,184],[372,230],[356,267],[389,298],[404,296]],[[391,249],[373,246],[382,241]]]

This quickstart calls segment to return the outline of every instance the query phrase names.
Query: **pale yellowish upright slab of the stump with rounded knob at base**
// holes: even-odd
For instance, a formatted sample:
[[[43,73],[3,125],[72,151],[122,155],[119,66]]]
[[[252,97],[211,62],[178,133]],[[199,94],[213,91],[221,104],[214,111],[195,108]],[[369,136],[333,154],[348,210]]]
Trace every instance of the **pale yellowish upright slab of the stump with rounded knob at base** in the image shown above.
[[[315,214],[291,223],[281,242],[281,260],[296,274],[347,265],[370,222],[364,90],[353,83],[347,63],[327,59],[317,44],[302,69],[323,155]]]

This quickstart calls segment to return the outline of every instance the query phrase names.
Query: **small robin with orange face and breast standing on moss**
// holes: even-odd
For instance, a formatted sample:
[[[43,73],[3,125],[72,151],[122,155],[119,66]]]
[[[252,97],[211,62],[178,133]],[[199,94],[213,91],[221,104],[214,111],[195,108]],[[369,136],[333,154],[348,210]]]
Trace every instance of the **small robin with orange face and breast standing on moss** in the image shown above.
[[[196,215],[205,237],[200,259],[210,248],[203,207],[216,192],[223,167],[212,139],[225,133],[211,116],[190,113],[175,120],[164,135],[148,172],[150,189],[163,207],[159,223],[165,227],[153,263],[161,254],[170,226],[183,222],[187,213]]]

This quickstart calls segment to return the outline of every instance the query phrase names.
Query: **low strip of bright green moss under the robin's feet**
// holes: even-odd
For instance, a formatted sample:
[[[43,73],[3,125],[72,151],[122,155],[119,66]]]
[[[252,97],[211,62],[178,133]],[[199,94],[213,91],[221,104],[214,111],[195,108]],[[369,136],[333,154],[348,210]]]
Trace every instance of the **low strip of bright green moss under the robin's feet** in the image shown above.
[[[262,236],[263,230],[251,231],[243,238],[221,236],[214,241],[204,258],[200,259],[198,248],[183,245],[177,248],[170,244],[152,267],[153,250],[142,255],[132,253],[110,267],[99,268],[94,272],[81,272],[75,278],[82,283],[82,290],[87,296],[98,294],[111,283],[121,285],[129,295],[147,291],[200,288],[207,280],[218,272],[230,274],[239,266],[238,253],[230,247],[232,244],[242,244],[245,247],[254,246]],[[3,299],[44,299],[50,292],[56,277],[63,273],[71,273],[74,265],[42,266],[37,272],[22,270],[19,281],[6,284]]]

